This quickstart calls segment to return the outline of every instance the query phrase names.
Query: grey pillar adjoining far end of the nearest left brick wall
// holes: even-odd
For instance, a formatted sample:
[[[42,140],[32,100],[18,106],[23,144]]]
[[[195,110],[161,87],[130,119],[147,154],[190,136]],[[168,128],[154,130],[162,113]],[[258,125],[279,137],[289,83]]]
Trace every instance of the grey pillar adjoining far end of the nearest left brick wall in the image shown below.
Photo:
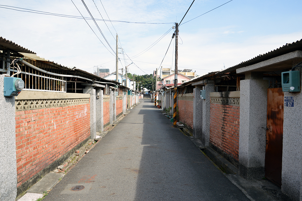
[[[96,97],[94,86],[86,86],[83,93],[90,94],[90,138],[94,139],[96,136]]]

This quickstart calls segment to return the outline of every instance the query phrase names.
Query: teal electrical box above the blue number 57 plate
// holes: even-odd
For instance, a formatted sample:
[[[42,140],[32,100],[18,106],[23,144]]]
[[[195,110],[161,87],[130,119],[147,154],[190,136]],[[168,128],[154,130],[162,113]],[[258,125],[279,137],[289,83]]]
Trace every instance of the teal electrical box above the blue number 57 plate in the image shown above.
[[[300,71],[282,72],[281,85],[284,92],[300,92]]]

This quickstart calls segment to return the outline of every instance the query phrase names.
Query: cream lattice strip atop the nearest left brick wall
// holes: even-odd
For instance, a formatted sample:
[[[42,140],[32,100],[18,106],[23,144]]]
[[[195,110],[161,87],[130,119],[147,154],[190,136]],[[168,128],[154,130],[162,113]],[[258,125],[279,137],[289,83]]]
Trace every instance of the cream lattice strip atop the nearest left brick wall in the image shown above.
[[[41,109],[51,107],[63,107],[67,105],[88,104],[89,98],[81,99],[33,99],[33,100],[15,100],[16,111]]]

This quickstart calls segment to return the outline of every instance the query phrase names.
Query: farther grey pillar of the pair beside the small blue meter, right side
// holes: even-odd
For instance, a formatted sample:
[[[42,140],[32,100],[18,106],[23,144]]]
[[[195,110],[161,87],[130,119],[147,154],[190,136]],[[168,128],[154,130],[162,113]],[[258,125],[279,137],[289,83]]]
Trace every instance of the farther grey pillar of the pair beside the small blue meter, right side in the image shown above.
[[[200,98],[200,90],[202,86],[195,86],[193,89],[193,136],[194,138],[202,137],[202,100]]]

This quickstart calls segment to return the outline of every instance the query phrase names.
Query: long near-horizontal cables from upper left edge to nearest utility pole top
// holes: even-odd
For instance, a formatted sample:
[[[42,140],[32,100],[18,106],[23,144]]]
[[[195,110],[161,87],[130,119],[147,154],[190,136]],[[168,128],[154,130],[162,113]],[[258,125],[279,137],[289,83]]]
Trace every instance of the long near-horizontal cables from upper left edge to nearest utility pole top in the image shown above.
[[[6,8],[6,7],[10,8]],[[58,17],[64,17],[64,18],[75,18],[75,19],[86,19],[86,20],[92,20],[92,18],[88,17],[81,17],[81,16],[76,16],[76,15],[64,15],[64,14],[58,14],[58,13],[51,13],[51,12],[44,12],[44,11],[37,11],[37,10],[32,10],[32,9],[27,9],[27,8],[20,8],[20,7],[15,7],[15,6],[8,6],[8,5],[0,5],[0,8],[5,8],[5,9],[10,9],[14,11],[21,11],[21,12],[29,12],[29,13],[36,13],[36,14],[41,14],[41,15],[53,15],[53,16],[58,16]],[[18,9],[23,9],[23,10],[18,10]],[[134,23],[134,24],[173,24],[174,22],[164,22],[164,23],[149,23],[149,22],[130,22],[130,21],[120,21],[120,20],[103,20],[103,19],[98,19],[95,18],[96,21],[109,21],[109,22],[122,22],[122,23]]]

